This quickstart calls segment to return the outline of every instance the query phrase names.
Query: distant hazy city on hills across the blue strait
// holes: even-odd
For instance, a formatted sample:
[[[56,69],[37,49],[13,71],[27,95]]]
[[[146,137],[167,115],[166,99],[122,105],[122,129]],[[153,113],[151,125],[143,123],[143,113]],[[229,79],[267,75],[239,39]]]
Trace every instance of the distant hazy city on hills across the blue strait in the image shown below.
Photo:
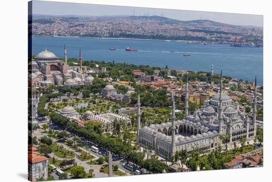
[[[173,40],[201,44],[263,45],[263,28],[162,16],[53,16],[34,14],[33,35]]]

